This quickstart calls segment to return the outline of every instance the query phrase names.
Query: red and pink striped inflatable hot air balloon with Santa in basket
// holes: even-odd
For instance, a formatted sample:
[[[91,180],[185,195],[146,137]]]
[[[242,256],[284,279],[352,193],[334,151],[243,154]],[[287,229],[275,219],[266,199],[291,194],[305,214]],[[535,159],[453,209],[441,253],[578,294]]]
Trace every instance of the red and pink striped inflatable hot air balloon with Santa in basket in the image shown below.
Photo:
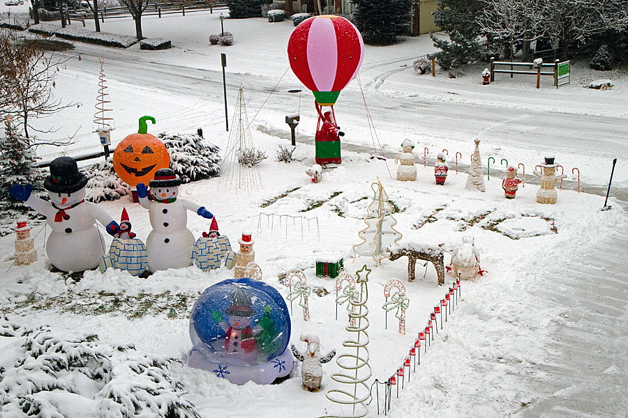
[[[318,112],[316,162],[341,162],[340,136],[334,104],[357,74],[364,59],[364,42],[357,28],[344,17],[324,15],[301,22],[287,47],[292,72],[314,93]],[[329,106],[331,110],[322,111]]]

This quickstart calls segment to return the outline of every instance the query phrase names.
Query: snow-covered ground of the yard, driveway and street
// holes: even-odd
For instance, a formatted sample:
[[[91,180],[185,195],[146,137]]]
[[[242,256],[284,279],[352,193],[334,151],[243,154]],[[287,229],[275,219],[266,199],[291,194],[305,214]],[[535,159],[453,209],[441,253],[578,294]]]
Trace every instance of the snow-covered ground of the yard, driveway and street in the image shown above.
[[[204,136],[224,149],[228,134],[219,54],[227,54],[230,123],[237,88],[244,81],[248,116],[255,116],[253,142],[269,155],[260,164],[263,187],[251,193],[225,192],[219,188],[220,179],[214,178],[184,185],[181,197],[211,210],[220,232],[228,235],[232,244],[241,231],[253,231],[264,281],[284,297],[288,289],[278,277],[292,268],[304,270],[308,284],[329,292],[322,297],[311,295],[309,321],[303,320],[300,307],[293,304],[291,341],[299,348],[299,334],[314,332],[320,335],[324,352],[345,350],[346,311],[339,307],[335,319],[334,281],[315,277],[314,261],[319,256],[346,255],[345,268],[351,273],[365,263],[373,270],[368,277],[368,349],[373,378],[379,381],[401,366],[417,333],[447,291],[447,286],[437,285],[432,265],[428,265],[426,277],[417,265],[417,280],[408,283],[405,258],[378,266],[364,257],[352,261],[350,250],[360,242],[357,233],[364,228],[366,207],[373,198],[371,183],[379,178],[399,210],[394,215],[396,229],[404,240],[444,243],[444,248],[450,249],[463,236],[472,236],[481,252],[481,268],[486,270],[484,277],[463,282],[461,300],[447,323],[441,324],[439,318],[438,335],[426,353],[421,351],[421,365],[410,374],[410,382],[404,381],[398,398],[396,387],[393,389],[391,417],[625,416],[625,72],[613,73],[615,87],[611,91],[582,88],[578,84],[581,77],[609,76],[579,62],[574,64],[572,83],[558,91],[548,80],[537,91],[532,79],[504,76],[491,86],[481,86],[479,67],[455,80],[440,73],[437,77],[417,75],[412,70],[413,59],[433,52],[425,36],[405,38],[393,47],[367,47],[359,77],[377,138],[371,137],[361,90],[354,81],[336,105],[338,123],[347,132],[343,164],[324,171],[322,182],[313,184],[304,173],[314,162],[313,100],[306,91],[287,93],[300,86],[290,70],[285,72],[290,22],[226,20],[225,30],[235,37],[232,47],[207,42],[209,34],[220,29],[217,13],[171,15],[161,20],[147,17],[143,22],[145,36],[170,38],[174,48],[145,52],[139,46],[119,50],[75,44],[73,53],[82,59],[73,59],[59,72],[55,95],[83,105],[38,123],[61,127],[59,135],[79,128],[77,144],[66,151],[70,155],[96,148],[92,106],[98,56],[103,55],[116,123],[114,144],[135,132],[139,116],[150,114],[158,124],[149,127],[149,132],[193,132],[202,127]],[[130,19],[103,24],[103,31],[133,35],[133,30]],[[283,118],[297,110],[301,113],[294,153],[297,160],[276,162],[278,146],[289,144]],[[485,177],[484,194],[464,189],[474,137],[482,140],[485,173],[488,157],[495,157],[491,179]],[[416,182],[395,180],[391,159],[369,158],[369,153],[380,152],[379,146],[373,148],[377,141],[394,157],[405,138],[417,144]],[[427,167],[421,167],[424,147],[429,148]],[[442,148],[449,150],[450,170],[440,187],[434,184],[433,157]],[[463,155],[458,161],[459,173],[456,152]],[[50,148],[40,150],[43,157],[57,153],[59,150]],[[569,175],[558,203],[537,204],[536,181],[520,187],[516,199],[504,199],[500,160],[522,162],[528,177],[545,153],[555,154]],[[621,200],[611,198],[613,208],[601,212],[604,197],[599,192],[605,192],[613,157],[620,159],[613,184],[618,191],[615,196]],[[581,169],[583,184],[592,193],[578,194],[572,167]],[[114,219],[119,219],[126,207],[133,230],[146,239],[149,220],[139,205],[123,199],[99,206]],[[287,222],[282,215],[297,218]],[[188,228],[198,237],[209,229],[209,222],[190,215]],[[14,237],[0,239],[3,313],[23,325],[46,323],[56,329],[94,332],[101,341],[135,343],[138,350],[158,355],[186,357],[191,346],[188,315],[193,300],[207,286],[232,277],[229,270],[204,273],[190,267],[158,272],[148,279],[114,271],[86,272],[74,282],[48,270],[43,226],[34,226],[32,234],[36,235],[40,261],[28,267],[12,266]],[[449,263],[448,254],[445,263]],[[391,278],[403,281],[410,298],[405,335],[396,331],[392,313],[388,329],[384,329],[383,286]],[[452,280],[448,274],[446,284]],[[149,297],[153,299],[147,303]],[[2,339],[0,346],[10,342]],[[318,417],[334,411],[324,395],[341,386],[329,378],[337,371],[335,362],[323,369],[323,387],[317,393],[301,388],[298,366],[292,378],[269,386],[234,386],[212,373],[186,366],[175,366],[172,376],[184,382],[186,397],[202,417],[292,417],[295,413]],[[382,405],[382,387],[379,393]],[[375,388],[372,394],[375,396]],[[377,415],[376,404],[373,400],[369,417]],[[84,417],[86,411],[79,408],[74,413]]]

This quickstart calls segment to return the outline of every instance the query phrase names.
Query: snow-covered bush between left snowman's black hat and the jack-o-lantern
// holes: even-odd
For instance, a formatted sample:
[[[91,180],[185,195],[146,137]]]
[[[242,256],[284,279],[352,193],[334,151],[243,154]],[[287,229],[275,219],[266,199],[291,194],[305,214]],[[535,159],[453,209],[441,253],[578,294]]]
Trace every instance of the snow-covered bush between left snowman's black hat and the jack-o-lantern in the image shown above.
[[[87,178],[85,200],[98,203],[112,201],[130,194],[131,187],[124,183],[113,168],[111,158],[96,164],[89,164],[82,171]]]

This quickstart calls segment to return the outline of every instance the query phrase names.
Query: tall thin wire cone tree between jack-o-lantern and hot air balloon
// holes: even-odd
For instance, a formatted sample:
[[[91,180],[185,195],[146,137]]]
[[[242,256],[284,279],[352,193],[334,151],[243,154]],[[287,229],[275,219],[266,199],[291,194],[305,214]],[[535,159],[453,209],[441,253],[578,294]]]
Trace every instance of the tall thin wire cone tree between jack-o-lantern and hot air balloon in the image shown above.
[[[255,151],[253,147],[253,139],[251,139],[251,129],[248,123],[248,114],[246,113],[246,104],[244,103],[244,83],[240,83],[238,91],[238,104],[232,118],[232,125],[225,148],[224,165],[225,169],[221,170],[219,189],[227,191],[232,188],[244,188],[246,192],[256,192],[262,188],[262,178],[257,164],[250,167],[242,164],[242,155]]]

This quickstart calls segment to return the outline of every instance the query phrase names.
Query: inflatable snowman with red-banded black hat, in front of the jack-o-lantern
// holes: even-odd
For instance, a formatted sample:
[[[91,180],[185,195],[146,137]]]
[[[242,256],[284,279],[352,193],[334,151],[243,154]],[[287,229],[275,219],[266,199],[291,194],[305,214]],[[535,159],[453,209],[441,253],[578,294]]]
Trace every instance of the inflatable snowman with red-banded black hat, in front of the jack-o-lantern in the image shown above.
[[[181,179],[172,169],[160,169],[150,180],[151,199],[144,183],[137,184],[140,204],[149,210],[153,230],[146,240],[149,256],[149,270],[167,270],[192,265],[190,251],[194,245],[194,235],[187,228],[187,210],[193,210],[204,218],[211,219],[209,210],[194,202],[177,199]]]

